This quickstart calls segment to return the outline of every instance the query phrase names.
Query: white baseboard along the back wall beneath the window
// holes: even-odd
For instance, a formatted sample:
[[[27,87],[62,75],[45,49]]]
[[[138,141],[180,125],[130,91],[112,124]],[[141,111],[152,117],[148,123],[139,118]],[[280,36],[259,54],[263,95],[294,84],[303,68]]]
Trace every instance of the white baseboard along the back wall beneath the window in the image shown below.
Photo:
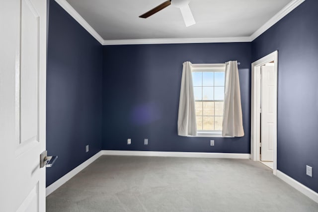
[[[249,159],[250,154],[217,152],[179,152],[179,151],[122,151],[102,150],[103,155],[158,156],[158,157],[205,157]]]

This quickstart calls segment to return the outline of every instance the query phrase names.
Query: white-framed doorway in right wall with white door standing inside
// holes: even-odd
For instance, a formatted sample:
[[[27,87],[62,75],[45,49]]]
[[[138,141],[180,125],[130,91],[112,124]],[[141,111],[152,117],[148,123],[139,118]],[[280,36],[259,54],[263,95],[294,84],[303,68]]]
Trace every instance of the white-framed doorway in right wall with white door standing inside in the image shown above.
[[[252,63],[251,159],[277,170],[278,52]]]

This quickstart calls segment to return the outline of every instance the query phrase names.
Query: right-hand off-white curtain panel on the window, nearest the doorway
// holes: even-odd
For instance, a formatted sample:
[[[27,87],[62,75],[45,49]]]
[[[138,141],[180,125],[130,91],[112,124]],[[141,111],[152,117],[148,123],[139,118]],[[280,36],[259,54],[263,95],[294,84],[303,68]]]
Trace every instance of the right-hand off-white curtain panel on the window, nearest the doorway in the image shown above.
[[[237,61],[227,63],[225,70],[223,137],[243,137],[242,108],[240,103],[239,69]]]

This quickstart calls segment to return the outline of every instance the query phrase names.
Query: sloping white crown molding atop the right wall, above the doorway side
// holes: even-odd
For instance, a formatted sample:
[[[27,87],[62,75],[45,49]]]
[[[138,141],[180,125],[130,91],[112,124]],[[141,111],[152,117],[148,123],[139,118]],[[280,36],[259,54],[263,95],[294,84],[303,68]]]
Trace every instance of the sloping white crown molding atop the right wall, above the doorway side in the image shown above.
[[[285,17],[288,13],[293,11],[297,6],[303,3],[305,0],[293,0],[289,4],[287,4],[284,8],[282,8],[276,15],[274,15],[271,19],[269,19],[263,26],[257,29],[251,36],[250,40],[255,40],[258,36],[263,34],[267,29],[272,27],[275,23],[277,23],[280,19]]]

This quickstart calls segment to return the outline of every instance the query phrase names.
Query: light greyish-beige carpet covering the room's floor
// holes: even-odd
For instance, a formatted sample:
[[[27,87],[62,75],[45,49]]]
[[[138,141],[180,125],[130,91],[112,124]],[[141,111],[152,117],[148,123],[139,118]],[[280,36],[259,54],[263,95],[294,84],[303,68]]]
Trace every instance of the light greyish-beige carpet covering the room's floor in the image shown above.
[[[101,156],[47,197],[47,212],[318,212],[259,162]]]

